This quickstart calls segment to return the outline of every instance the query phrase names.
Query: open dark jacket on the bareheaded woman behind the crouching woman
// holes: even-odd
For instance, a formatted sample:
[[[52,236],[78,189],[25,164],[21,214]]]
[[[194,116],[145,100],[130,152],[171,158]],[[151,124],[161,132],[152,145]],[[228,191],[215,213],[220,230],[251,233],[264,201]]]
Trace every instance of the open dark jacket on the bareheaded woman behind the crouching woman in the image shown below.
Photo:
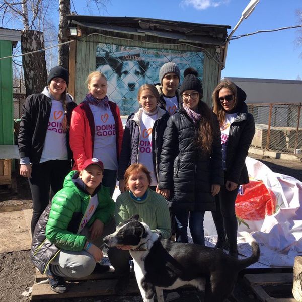
[[[124,179],[126,169],[133,163],[138,163],[138,147],[140,138],[140,121],[142,108],[128,117],[123,135],[122,151],[119,160],[117,179]],[[164,131],[169,119],[169,113],[159,108],[158,119],[152,129],[152,158],[156,178],[160,166],[160,156],[163,144]]]

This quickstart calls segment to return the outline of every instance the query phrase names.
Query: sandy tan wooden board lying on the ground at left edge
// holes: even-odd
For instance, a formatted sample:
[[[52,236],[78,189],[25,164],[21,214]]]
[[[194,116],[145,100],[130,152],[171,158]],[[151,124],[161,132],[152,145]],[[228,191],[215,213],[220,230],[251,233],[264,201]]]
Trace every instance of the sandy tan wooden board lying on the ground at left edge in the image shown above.
[[[23,211],[0,213],[0,253],[30,248],[31,238]]]

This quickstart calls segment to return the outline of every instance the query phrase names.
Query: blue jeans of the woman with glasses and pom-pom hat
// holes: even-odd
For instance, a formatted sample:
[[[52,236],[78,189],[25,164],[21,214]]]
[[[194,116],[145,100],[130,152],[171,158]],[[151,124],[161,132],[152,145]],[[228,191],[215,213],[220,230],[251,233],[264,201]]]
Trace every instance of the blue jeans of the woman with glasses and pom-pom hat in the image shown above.
[[[176,221],[175,233],[177,242],[188,242],[187,228],[188,223],[190,223],[189,227],[193,242],[204,246],[204,213],[204,211],[174,211]]]

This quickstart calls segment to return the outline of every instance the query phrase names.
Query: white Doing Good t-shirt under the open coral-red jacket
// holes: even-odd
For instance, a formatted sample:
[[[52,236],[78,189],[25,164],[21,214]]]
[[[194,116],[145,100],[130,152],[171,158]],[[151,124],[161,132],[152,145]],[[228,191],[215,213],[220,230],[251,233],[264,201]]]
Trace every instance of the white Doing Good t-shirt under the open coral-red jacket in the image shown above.
[[[95,122],[93,157],[100,159],[104,169],[117,170],[116,130],[113,114],[107,108],[89,104]]]

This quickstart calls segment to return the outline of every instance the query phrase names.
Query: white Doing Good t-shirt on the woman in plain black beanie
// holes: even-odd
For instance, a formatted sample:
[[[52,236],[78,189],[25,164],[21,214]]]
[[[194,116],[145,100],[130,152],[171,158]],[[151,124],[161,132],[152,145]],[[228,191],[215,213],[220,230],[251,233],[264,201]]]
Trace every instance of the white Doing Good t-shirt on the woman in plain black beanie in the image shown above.
[[[66,133],[62,125],[64,115],[63,103],[52,99],[40,163],[68,159]]]

